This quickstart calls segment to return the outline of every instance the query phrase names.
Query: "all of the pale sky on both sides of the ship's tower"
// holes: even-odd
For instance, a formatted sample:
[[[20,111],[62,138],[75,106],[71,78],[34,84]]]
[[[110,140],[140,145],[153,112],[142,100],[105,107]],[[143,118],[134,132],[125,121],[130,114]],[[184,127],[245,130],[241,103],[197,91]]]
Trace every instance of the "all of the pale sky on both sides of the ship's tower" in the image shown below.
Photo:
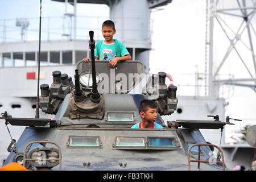
[[[16,18],[31,18],[29,29],[30,34],[28,40],[38,40],[38,16],[39,16],[39,0],[0,0],[0,40],[3,37],[2,25],[3,19],[6,20],[10,31],[6,37],[9,40],[19,40],[20,32],[14,30]],[[235,3],[234,3],[235,2]],[[246,0],[248,3],[254,1]],[[236,1],[220,1],[219,7],[224,6],[236,7]],[[68,13],[72,12],[72,6],[68,6]],[[56,27],[52,30],[51,39],[61,38],[61,26],[63,19],[59,18],[65,13],[64,3],[43,0],[42,6],[42,39],[47,39],[47,28]],[[98,30],[102,20],[109,17],[109,7],[106,5],[79,4],[77,6],[77,15],[82,16],[78,19],[77,36],[85,39],[83,34],[89,19],[94,20],[92,24],[93,30]],[[51,16],[50,20],[46,17]],[[222,19],[229,20],[229,25],[237,30],[241,23],[240,18],[230,18],[229,15],[220,15]],[[100,17],[100,18],[98,18]],[[37,19],[33,19],[37,18]],[[192,94],[194,89],[184,87],[182,85],[195,85],[195,72],[205,72],[205,1],[204,0],[174,0],[161,9],[154,9],[151,12],[152,24],[152,50],[150,51],[150,73],[158,73],[160,71],[170,73],[174,78],[174,84],[179,86],[179,94]],[[9,24],[8,24],[9,23]],[[222,60],[225,51],[228,49],[230,42],[226,39],[217,22],[214,24],[214,70],[218,63]],[[252,21],[256,27],[255,18]],[[33,31],[34,30],[34,31]],[[255,30],[255,29],[254,29]],[[252,31],[255,40],[255,31]],[[230,35],[232,35],[232,32]],[[246,32],[245,32],[246,33]],[[209,32],[208,32],[209,34]],[[13,36],[15,35],[15,36]],[[241,36],[245,36],[242,34]],[[96,34],[96,36],[101,36]],[[11,39],[13,38],[13,39]],[[0,41],[1,42],[1,41]],[[248,44],[248,41],[245,41]],[[251,55],[242,44],[237,44],[240,48],[241,55],[249,64],[251,73],[254,73]],[[249,74],[243,67],[243,64],[236,52],[230,53],[230,58],[224,63],[220,71],[220,78],[248,78]],[[255,76],[254,76],[255,77]],[[200,85],[204,85],[204,81],[199,80]],[[221,93],[229,102],[226,109],[226,115],[232,118],[245,119],[247,122],[254,122],[256,114],[252,108],[256,107],[256,93],[249,88],[241,88],[237,86],[222,86]],[[204,96],[203,86],[200,94]],[[240,123],[238,126],[245,126],[246,123]]]

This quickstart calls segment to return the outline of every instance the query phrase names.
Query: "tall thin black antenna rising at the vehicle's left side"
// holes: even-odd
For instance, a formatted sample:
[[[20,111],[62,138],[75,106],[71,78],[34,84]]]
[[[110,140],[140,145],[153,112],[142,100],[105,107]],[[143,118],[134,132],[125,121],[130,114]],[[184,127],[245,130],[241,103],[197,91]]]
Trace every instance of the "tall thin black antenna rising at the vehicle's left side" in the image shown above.
[[[41,52],[41,16],[42,16],[42,0],[40,0],[40,23],[39,23],[39,57],[38,57],[38,94],[36,96],[36,115],[39,118],[39,78],[40,78],[40,52]]]

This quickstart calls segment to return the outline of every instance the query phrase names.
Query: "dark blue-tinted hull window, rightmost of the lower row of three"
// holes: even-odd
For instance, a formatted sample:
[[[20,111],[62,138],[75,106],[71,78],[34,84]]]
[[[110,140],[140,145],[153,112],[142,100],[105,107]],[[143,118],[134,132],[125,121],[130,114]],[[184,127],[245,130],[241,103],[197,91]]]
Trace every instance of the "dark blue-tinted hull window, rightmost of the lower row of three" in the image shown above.
[[[176,147],[174,138],[148,138],[148,147]]]

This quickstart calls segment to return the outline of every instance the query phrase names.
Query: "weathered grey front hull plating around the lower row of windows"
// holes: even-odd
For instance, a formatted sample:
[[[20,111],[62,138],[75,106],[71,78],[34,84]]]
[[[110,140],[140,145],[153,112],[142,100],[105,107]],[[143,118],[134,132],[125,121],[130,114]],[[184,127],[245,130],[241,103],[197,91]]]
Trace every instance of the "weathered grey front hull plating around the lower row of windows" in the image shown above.
[[[187,141],[188,139],[181,139],[178,135],[180,130],[154,130],[154,129],[129,129],[127,127],[117,128],[101,127],[100,128],[64,128],[57,127],[50,129],[48,127],[27,127],[16,146],[19,151],[23,151],[27,143],[31,140],[49,140],[60,146],[62,160],[61,165],[63,170],[187,170]],[[191,136],[191,131],[183,131]],[[204,140],[200,137],[199,131],[196,141]],[[70,135],[76,136],[100,136],[102,148],[69,148],[67,146]],[[117,150],[112,147],[115,137],[176,137],[179,143],[178,150]],[[195,134],[194,134],[195,135]],[[26,137],[27,136],[27,137]],[[32,148],[32,147],[31,147]],[[209,158],[209,149],[202,148],[204,159]],[[6,163],[9,163],[14,156],[11,152]],[[197,155],[192,154],[194,158]],[[86,165],[86,163],[90,165]],[[123,168],[119,165],[122,163],[126,166]],[[84,164],[85,163],[85,166]],[[216,165],[203,166],[206,170],[219,170],[220,167]],[[58,170],[59,167],[53,169]]]

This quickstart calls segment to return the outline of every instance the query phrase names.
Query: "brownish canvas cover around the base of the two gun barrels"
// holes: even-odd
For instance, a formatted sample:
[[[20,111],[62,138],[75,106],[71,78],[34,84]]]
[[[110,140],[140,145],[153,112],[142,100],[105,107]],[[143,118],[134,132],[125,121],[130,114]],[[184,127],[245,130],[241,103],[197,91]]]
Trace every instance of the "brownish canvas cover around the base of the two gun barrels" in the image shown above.
[[[98,103],[90,100],[90,95],[84,98],[83,101],[75,101],[75,88],[71,91],[71,97],[69,100],[69,118],[104,118],[104,96],[101,96],[101,100]]]

